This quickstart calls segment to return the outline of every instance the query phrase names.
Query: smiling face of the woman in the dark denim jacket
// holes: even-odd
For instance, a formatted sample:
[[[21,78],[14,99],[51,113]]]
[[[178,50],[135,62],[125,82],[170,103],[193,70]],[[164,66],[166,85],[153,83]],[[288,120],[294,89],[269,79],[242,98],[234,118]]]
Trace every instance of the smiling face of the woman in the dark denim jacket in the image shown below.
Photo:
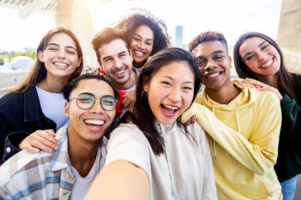
[[[45,63],[47,73],[57,77],[70,76],[81,63],[75,42],[65,33],[54,34],[38,56]]]

